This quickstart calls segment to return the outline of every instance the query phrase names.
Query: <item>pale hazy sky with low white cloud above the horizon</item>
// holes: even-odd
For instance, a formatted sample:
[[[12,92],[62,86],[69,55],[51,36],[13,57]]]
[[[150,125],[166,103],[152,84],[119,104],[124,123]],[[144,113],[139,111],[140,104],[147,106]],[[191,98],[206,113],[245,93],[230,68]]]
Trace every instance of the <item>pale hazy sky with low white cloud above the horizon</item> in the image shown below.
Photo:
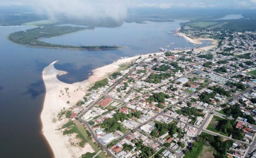
[[[256,9],[256,0],[0,0],[0,6],[30,6],[49,17],[125,17],[129,8]]]

